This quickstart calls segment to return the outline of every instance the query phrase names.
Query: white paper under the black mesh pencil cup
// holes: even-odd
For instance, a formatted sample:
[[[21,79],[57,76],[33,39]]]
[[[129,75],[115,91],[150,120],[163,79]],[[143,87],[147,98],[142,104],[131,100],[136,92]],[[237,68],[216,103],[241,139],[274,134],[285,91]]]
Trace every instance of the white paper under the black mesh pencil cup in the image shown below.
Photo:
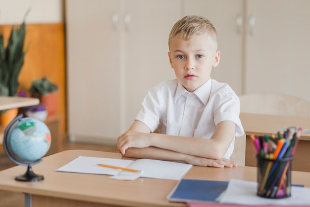
[[[257,182],[231,179],[219,203],[241,205],[309,205],[310,188],[291,187],[291,197],[270,199],[257,196]]]

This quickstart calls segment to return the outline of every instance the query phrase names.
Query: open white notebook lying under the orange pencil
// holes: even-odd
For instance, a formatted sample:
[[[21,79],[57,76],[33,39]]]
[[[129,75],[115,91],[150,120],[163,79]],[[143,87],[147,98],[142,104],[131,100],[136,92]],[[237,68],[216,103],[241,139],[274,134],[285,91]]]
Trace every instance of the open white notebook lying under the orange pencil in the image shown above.
[[[142,173],[101,167],[98,165],[99,163],[141,170]],[[153,159],[137,159],[133,161],[79,156],[56,171],[113,175],[111,178],[118,180],[135,180],[139,177],[180,180],[191,167],[190,164]]]

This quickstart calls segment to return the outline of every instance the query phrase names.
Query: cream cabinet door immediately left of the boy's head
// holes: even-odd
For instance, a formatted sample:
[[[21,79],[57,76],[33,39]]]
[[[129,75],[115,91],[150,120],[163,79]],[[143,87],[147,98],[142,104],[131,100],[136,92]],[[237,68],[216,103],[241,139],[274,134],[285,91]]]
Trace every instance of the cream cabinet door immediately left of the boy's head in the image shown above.
[[[181,18],[180,0],[126,0],[121,100],[124,128],[134,121],[149,88],[174,79],[168,59],[168,35]]]

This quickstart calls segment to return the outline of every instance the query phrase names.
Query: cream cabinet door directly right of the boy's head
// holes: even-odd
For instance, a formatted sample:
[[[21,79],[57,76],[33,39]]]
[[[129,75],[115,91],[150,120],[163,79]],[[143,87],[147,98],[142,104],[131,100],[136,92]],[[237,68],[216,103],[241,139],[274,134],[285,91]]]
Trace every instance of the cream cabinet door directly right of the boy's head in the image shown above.
[[[242,12],[243,0],[184,0],[185,15],[200,15],[209,19],[218,33],[221,52],[218,67],[211,78],[228,83],[237,94],[242,93]]]

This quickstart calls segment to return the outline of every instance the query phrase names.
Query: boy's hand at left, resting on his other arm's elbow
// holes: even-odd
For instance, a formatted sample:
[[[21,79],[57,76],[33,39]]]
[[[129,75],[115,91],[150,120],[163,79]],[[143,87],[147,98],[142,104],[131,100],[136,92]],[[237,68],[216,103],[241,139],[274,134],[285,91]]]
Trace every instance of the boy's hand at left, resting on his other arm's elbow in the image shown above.
[[[124,155],[130,147],[144,148],[150,146],[148,136],[150,133],[127,131],[117,138],[116,146],[118,151]]]

